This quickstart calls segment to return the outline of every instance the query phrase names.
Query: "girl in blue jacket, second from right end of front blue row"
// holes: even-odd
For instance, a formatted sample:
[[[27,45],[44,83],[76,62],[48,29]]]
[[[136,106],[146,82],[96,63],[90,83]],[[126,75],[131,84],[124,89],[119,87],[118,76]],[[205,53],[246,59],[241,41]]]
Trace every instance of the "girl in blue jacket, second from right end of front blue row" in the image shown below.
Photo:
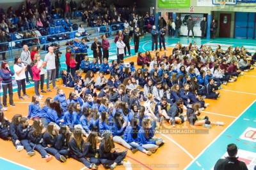
[[[146,153],[147,155],[151,155],[152,152],[149,150],[145,150],[142,146],[138,144],[138,132],[140,130],[140,126],[138,125],[138,118],[132,118],[131,125],[128,125],[124,132],[124,140],[129,143],[134,148],[138,148],[140,152]]]

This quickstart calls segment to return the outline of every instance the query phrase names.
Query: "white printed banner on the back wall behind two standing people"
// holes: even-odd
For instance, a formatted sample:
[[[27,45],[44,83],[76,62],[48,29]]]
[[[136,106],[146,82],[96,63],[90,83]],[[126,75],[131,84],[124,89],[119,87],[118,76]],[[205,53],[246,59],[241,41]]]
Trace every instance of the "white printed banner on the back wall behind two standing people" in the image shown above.
[[[182,36],[188,35],[187,21],[190,16],[195,22],[195,26],[193,29],[194,36],[201,36],[202,32],[200,30],[200,22],[203,20],[204,14],[191,14],[191,13],[182,13],[180,15],[180,19],[182,20],[182,25],[180,27],[180,35]],[[192,32],[190,31],[189,34],[191,36]]]

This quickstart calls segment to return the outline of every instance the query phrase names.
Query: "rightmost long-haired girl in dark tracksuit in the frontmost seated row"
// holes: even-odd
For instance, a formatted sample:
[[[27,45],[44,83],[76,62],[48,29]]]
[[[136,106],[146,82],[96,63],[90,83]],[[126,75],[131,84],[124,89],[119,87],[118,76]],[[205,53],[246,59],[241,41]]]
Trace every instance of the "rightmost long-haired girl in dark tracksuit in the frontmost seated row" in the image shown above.
[[[117,165],[122,165],[124,158],[127,155],[127,150],[124,152],[116,152],[115,144],[111,131],[102,132],[102,141],[99,148],[99,158],[104,167],[115,169]]]

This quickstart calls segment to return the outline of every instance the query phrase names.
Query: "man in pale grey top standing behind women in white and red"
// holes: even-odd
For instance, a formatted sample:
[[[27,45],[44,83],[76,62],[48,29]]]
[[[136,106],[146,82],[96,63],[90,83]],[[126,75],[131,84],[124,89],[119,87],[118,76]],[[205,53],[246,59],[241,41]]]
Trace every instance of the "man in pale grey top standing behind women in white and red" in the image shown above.
[[[25,71],[26,82],[28,84],[30,84],[29,78],[28,78],[28,73],[30,74],[32,80],[33,80],[33,74],[32,74],[32,70],[31,70],[31,54],[30,54],[30,52],[28,50],[28,45],[24,45],[23,46],[23,50],[22,50],[22,53],[20,55],[20,59],[21,59],[22,63],[27,66],[26,67],[27,69]]]

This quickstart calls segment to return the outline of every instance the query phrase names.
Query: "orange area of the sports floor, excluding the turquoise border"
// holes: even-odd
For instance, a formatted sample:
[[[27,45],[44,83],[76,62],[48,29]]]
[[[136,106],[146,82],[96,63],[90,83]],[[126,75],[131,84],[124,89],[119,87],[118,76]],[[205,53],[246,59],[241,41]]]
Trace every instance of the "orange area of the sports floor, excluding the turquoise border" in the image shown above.
[[[171,49],[168,47],[167,55],[170,55]],[[125,59],[126,62],[136,62],[136,57]],[[60,81],[61,82],[61,81]],[[61,83],[57,82],[59,87]],[[256,71],[252,70],[248,73],[244,72],[244,76],[239,76],[234,83],[223,85],[223,89],[219,90],[221,97],[218,100],[205,99],[210,106],[202,111],[202,115],[207,115],[211,121],[225,122],[224,126],[212,126],[209,129],[209,134],[168,134],[166,131],[156,134],[157,137],[164,139],[165,144],[157,150],[156,153],[148,156],[145,153],[137,152],[132,154],[128,151],[127,160],[131,162],[131,167],[120,166],[116,169],[184,169],[202,150],[204,150],[211,141],[213,141],[221,132],[223,132],[229,124],[231,124],[243,110],[245,110],[256,99]],[[46,85],[45,85],[46,86]],[[65,91],[66,96],[69,88],[60,87]],[[33,96],[34,89],[27,89],[27,94]],[[46,97],[54,97],[56,90],[47,92]],[[31,97],[24,101],[17,99],[17,92],[13,95],[15,107],[9,106],[8,111],[5,111],[5,116],[10,120],[13,115],[20,113],[24,116],[28,115],[28,104],[31,102]],[[42,103],[44,102],[42,100]],[[239,127],[237,127],[239,128]],[[168,123],[163,125],[163,129],[205,129],[204,127],[191,127],[188,122],[182,125],[177,125],[173,128]],[[225,144],[226,145],[226,144]],[[120,151],[124,147],[117,145]],[[67,162],[61,163],[56,159],[50,162],[45,162],[40,157],[40,153],[29,157],[26,150],[17,152],[11,141],[3,141],[0,139],[0,157],[12,160],[18,164],[31,167],[32,169],[82,169],[84,165],[74,159],[68,159]],[[4,169],[3,165],[0,169]],[[99,169],[104,169],[102,166]]]

